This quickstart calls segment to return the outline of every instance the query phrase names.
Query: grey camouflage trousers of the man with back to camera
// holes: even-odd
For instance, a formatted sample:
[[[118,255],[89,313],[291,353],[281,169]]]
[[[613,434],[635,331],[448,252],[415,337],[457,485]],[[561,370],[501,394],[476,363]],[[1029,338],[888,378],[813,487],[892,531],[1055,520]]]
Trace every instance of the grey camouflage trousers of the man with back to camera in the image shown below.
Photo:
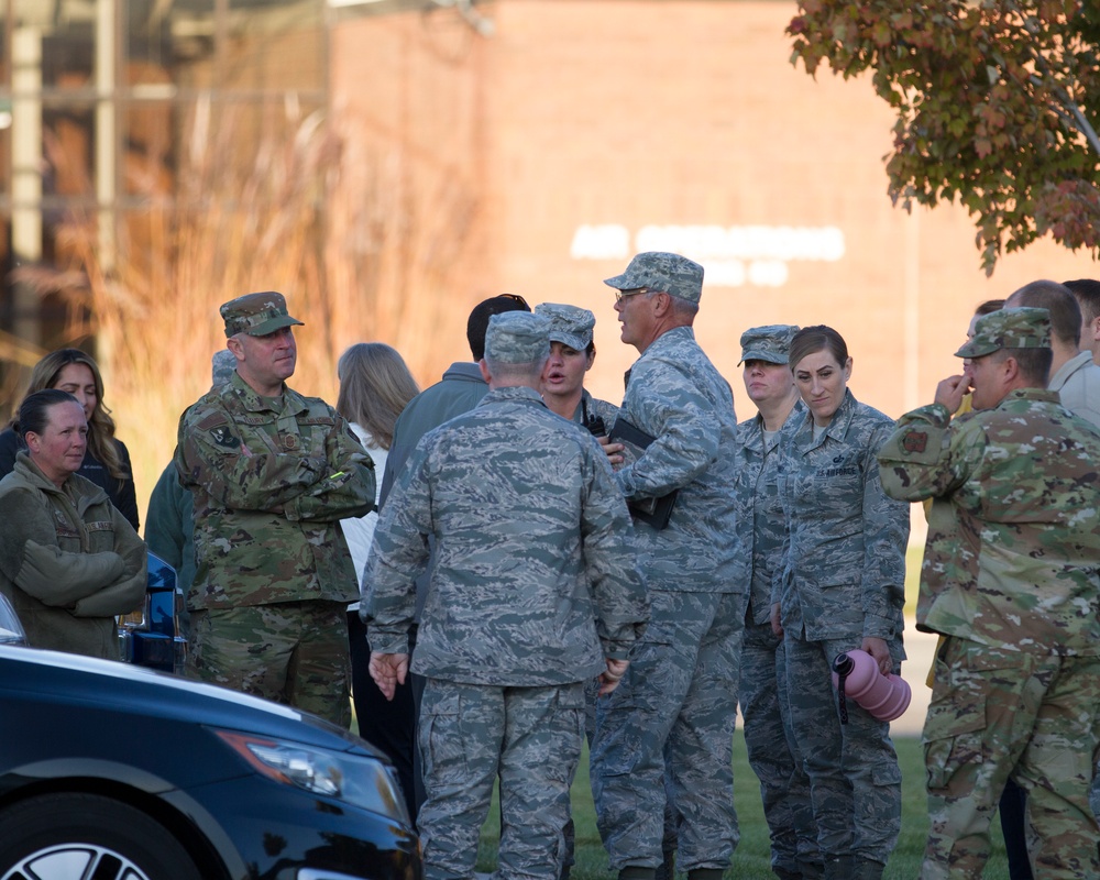
[[[425,880],[472,880],[498,778],[494,877],[557,880],[569,790],[581,760],[584,684],[494,688],[427,679],[417,736]]]

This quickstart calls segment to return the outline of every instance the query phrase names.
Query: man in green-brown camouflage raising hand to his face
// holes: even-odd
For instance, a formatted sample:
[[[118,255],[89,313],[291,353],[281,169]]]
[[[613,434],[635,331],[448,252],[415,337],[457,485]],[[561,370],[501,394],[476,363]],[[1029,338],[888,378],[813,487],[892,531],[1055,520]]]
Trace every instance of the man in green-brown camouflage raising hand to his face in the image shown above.
[[[890,495],[934,498],[916,620],[946,639],[924,725],[925,880],[982,876],[1010,778],[1035,876],[1100,877],[1100,435],[1045,389],[1048,340],[1046,309],[981,318],[957,352],[968,375],[879,453]],[[975,411],[952,420],[968,384]]]

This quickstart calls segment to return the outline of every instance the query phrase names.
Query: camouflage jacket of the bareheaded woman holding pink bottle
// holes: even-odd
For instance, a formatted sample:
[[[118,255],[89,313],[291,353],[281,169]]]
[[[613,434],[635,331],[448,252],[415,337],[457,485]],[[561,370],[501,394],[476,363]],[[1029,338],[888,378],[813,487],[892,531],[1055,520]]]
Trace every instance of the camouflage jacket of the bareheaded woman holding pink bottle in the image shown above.
[[[780,461],[788,540],[772,601],[809,641],[880,638],[904,659],[909,506],[882,491],[876,459],[893,426],[850,391],[820,440],[811,413],[795,424]]]

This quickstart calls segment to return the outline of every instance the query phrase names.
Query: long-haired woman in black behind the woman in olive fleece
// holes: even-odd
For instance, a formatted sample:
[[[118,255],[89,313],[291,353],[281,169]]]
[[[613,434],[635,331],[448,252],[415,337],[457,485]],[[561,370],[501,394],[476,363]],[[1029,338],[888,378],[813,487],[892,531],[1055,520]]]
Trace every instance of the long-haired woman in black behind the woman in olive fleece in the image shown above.
[[[78,473],[107,492],[134,531],[138,522],[138,496],[134,492],[130,452],[114,437],[114,419],[103,403],[103,377],[91,355],[79,349],[58,349],[38,361],[31,371],[26,394],[45,388],[68,392],[84,408],[88,420],[88,451]],[[18,419],[0,431],[0,476],[15,466],[19,443]]]

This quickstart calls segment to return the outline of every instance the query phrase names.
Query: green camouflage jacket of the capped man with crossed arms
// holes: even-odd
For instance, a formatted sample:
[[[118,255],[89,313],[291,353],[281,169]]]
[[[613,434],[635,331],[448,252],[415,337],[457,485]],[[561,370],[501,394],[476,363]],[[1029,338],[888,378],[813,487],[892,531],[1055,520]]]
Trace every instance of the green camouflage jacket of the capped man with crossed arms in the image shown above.
[[[188,607],[355,598],[340,520],[374,507],[374,464],[332,407],[284,385],[277,411],[234,373],[180,417],[175,462],[195,497]]]

